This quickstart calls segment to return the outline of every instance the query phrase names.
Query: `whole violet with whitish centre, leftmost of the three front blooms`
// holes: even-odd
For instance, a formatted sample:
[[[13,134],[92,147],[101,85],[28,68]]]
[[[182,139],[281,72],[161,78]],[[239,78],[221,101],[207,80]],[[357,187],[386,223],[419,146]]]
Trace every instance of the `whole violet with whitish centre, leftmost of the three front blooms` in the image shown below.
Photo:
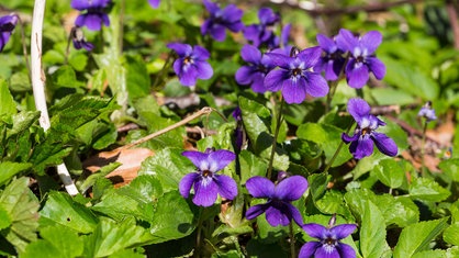
[[[182,153],[197,166],[195,172],[184,176],[179,183],[179,191],[188,198],[191,187],[194,189],[193,203],[200,206],[211,206],[217,193],[225,199],[233,200],[237,195],[237,184],[233,178],[216,175],[217,171],[231,164],[236,155],[229,150],[211,150],[204,153],[188,150]]]

